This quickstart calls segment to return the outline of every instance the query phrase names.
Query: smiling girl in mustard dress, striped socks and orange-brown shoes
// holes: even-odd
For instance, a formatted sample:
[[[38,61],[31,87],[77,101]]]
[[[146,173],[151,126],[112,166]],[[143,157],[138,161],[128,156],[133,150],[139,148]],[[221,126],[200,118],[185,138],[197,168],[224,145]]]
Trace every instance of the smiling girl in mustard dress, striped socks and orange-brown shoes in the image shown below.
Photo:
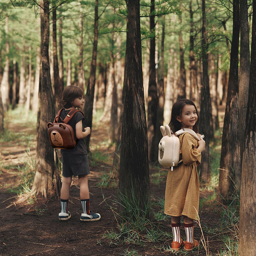
[[[189,99],[180,99],[172,107],[169,126],[173,132],[189,128],[198,133],[198,115],[195,104]],[[165,214],[172,216],[172,249],[178,251],[185,245],[189,251],[198,247],[194,240],[194,220],[198,219],[199,179],[197,166],[201,163],[201,151],[205,146],[203,139],[197,140],[192,134],[179,136],[183,162],[169,170],[166,180]],[[186,241],[180,238],[180,217],[183,216]]]

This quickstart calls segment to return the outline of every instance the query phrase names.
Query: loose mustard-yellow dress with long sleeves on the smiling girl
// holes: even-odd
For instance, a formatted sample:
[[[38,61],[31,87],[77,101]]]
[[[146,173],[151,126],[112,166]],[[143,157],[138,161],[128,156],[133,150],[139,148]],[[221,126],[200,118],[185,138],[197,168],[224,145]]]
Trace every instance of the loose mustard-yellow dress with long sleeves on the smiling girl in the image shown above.
[[[198,219],[199,178],[197,166],[201,163],[198,140],[191,134],[179,136],[182,159],[173,171],[168,172],[164,212],[170,216],[187,216]]]

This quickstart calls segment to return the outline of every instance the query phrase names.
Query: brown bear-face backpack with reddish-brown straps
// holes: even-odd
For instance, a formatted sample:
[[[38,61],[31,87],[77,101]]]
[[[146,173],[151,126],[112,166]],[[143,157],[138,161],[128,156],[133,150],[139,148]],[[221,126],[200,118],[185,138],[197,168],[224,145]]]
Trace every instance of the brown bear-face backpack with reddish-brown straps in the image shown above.
[[[79,110],[71,109],[64,120],[60,116],[62,110],[64,108],[58,111],[53,123],[49,122],[47,124],[49,140],[53,148],[72,149],[76,146],[77,141],[73,128],[68,122]],[[59,119],[61,119],[61,122],[59,122]]]

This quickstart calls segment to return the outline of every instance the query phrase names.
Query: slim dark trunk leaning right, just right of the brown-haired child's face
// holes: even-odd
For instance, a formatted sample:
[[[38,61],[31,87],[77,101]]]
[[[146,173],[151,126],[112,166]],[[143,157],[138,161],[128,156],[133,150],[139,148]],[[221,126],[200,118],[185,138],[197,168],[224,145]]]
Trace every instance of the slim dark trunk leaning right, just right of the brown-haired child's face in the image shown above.
[[[93,39],[93,57],[90,67],[90,77],[87,84],[87,91],[85,95],[85,104],[83,108],[84,112],[84,125],[92,127],[93,122],[93,100],[94,100],[94,88],[96,80],[96,59],[97,59],[97,45],[98,45],[98,0],[95,0],[95,14],[94,14],[94,39]],[[89,150],[90,135],[85,138],[87,151]]]

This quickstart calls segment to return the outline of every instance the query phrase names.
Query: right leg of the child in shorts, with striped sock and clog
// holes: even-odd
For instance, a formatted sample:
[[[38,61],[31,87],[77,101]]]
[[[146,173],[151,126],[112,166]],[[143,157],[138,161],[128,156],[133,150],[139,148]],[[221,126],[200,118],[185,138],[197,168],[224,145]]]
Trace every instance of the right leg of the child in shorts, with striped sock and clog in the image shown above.
[[[87,175],[79,175],[79,185],[80,199],[83,209],[80,221],[98,221],[100,219],[99,213],[93,213],[90,211],[90,194]]]

